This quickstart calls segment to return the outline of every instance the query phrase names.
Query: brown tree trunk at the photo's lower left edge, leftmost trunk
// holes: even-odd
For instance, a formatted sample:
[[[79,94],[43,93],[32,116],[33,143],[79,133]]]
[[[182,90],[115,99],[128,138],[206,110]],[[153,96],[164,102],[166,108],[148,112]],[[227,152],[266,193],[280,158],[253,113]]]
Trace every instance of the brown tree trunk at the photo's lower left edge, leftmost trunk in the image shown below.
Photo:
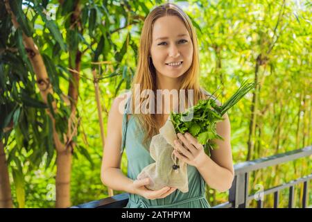
[[[0,208],[12,208],[12,196],[4,146],[0,140]]]

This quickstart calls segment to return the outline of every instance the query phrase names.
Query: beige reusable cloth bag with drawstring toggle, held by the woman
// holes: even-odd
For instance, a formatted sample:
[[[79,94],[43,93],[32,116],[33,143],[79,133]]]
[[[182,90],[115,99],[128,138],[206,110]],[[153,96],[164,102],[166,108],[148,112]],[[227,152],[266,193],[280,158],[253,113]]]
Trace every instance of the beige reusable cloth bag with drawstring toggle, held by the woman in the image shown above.
[[[153,136],[150,142],[150,156],[155,162],[146,166],[137,176],[139,180],[150,179],[150,184],[146,185],[146,188],[158,190],[168,186],[175,187],[183,193],[189,191],[187,164],[173,154],[175,139],[177,135],[169,117],[165,125],[159,129],[159,134]]]

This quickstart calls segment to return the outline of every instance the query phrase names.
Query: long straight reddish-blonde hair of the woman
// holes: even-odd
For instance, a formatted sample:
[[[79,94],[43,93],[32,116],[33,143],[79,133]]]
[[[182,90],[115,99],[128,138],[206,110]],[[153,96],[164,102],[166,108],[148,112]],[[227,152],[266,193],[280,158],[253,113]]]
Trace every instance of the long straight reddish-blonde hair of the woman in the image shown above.
[[[180,89],[186,89],[186,92],[187,89],[193,89],[194,105],[198,103],[199,99],[206,98],[206,92],[200,87],[199,83],[200,64],[196,31],[193,28],[191,20],[181,8],[173,3],[165,3],[154,8],[144,21],[139,45],[139,60],[137,64],[137,71],[132,80],[132,111],[135,110],[135,84],[140,85],[140,92],[142,92],[144,89],[151,89],[153,92],[156,92],[156,72],[153,62],[149,57],[149,51],[152,44],[153,24],[157,19],[164,16],[179,17],[186,26],[193,43],[193,61],[191,63],[191,67],[189,67],[189,69],[184,74]],[[142,100],[143,99],[140,99],[140,102]],[[158,133],[160,123],[157,123],[155,114],[135,114],[135,116],[137,116],[139,123],[141,126],[143,126],[143,132],[146,132],[146,135],[143,139],[143,142],[146,143],[148,139]]]

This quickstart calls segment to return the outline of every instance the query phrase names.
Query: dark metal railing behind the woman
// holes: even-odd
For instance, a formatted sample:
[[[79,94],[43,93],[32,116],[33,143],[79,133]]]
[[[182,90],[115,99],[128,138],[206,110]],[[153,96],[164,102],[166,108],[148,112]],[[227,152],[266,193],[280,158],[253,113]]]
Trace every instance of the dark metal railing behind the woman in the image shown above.
[[[289,189],[288,207],[294,205],[294,186],[303,182],[302,207],[306,208],[309,205],[309,181],[312,178],[312,173],[302,178],[297,178],[291,182],[287,182],[277,187],[264,189],[261,193],[249,194],[248,181],[252,171],[272,167],[284,162],[297,160],[301,157],[309,157],[312,154],[312,146],[307,146],[295,151],[289,151],[270,157],[263,157],[257,160],[242,162],[234,165],[235,176],[232,182],[232,187],[229,189],[229,200],[226,203],[213,206],[212,208],[244,208],[248,207],[248,201],[257,200],[257,207],[263,207],[263,197],[268,194],[274,194],[274,207],[278,207],[279,191]],[[261,195],[261,196],[259,196]],[[118,194],[101,200],[94,200],[89,203],[73,206],[72,208],[122,208],[128,203],[128,194]]]

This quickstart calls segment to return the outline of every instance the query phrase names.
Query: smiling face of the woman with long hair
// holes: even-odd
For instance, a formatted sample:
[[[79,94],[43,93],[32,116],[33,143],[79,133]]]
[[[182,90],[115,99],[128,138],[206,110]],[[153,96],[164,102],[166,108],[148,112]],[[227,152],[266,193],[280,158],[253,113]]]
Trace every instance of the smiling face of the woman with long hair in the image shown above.
[[[150,56],[157,75],[177,78],[191,67],[193,44],[179,17],[165,16],[155,21]]]

